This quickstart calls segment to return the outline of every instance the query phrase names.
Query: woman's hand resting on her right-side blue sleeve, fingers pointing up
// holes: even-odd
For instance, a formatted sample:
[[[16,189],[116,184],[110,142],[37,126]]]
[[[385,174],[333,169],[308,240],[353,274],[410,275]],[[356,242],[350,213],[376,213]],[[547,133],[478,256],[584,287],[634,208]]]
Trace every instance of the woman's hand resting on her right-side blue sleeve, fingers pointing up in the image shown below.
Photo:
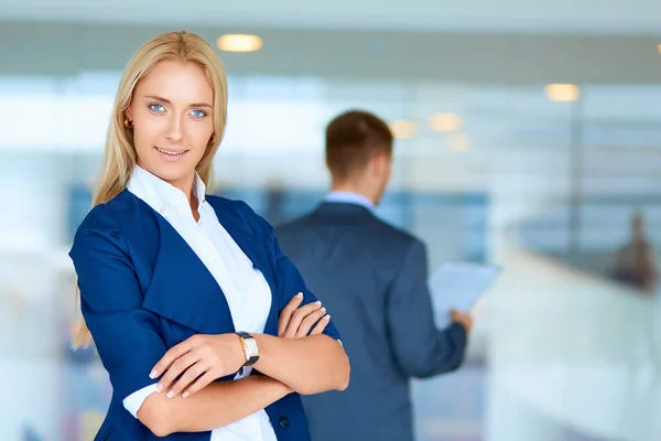
[[[330,315],[326,314],[326,309],[322,308],[322,302],[307,303],[301,306],[302,301],[303,294],[299,292],[280,313],[278,321],[279,337],[301,338],[308,334],[321,334],[326,329]],[[312,330],[312,333],[310,330]]]

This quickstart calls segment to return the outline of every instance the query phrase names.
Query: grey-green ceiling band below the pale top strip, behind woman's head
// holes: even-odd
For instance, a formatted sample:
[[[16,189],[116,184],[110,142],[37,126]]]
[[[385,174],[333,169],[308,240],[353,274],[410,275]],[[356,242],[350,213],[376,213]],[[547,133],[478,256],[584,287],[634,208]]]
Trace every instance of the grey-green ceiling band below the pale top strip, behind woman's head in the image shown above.
[[[661,3],[661,0],[659,0]],[[275,30],[232,26],[0,22],[0,75],[121,71],[158,33],[185,29],[209,42],[248,30],[252,54],[221,54],[229,74],[395,82],[659,84],[660,36]]]

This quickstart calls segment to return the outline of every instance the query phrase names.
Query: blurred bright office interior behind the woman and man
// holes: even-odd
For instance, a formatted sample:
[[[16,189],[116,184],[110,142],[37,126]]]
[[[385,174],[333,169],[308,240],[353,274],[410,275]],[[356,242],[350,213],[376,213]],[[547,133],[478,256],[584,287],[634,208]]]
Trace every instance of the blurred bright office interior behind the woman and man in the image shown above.
[[[68,349],[67,251],[124,64],[182,29],[260,37],[219,50],[215,193],[273,223],[313,208],[325,123],[371,110],[398,137],[379,215],[431,270],[503,268],[466,365],[415,383],[419,440],[661,439],[657,289],[617,263],[637,214],[661,247],[661,2],[0,0],[1,440],[100,424],[106,374]]]

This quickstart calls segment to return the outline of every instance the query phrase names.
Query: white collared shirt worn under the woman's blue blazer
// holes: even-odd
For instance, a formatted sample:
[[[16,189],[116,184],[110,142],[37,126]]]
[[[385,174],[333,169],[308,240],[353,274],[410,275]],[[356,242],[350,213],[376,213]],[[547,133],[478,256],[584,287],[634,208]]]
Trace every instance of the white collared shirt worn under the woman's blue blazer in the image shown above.
[[[199,220],[195,222],[186,195],[177,187],[136,166],[129,191],[162,215],[195,251],[216,279],[238,331],[263,333],[271,309],[271,289],[263,275],[218,222],[216,212],[205,201],[205,185],[195,174],[193,193],[198,201]],[[220,295],[220,293],[218,294]],[[235,379],[252,370],[243,368]],[[129,395],[124,408],[138,418],[138,410],[156,384]],[[275,432],[262,409],[231,424],[214,429],[210,441],[277,441]]]

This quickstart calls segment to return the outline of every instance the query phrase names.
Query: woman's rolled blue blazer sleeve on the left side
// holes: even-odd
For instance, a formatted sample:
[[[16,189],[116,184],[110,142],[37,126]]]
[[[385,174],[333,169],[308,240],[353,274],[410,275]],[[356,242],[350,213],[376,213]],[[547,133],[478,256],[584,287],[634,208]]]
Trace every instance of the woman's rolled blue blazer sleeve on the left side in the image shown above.
[[[141,308],[143,294],[126,240],[106,205],[85,218],[69,256],[83,316],[115,392],[126,398],[154,383],[149,374],[166,347],[158,318]]]

